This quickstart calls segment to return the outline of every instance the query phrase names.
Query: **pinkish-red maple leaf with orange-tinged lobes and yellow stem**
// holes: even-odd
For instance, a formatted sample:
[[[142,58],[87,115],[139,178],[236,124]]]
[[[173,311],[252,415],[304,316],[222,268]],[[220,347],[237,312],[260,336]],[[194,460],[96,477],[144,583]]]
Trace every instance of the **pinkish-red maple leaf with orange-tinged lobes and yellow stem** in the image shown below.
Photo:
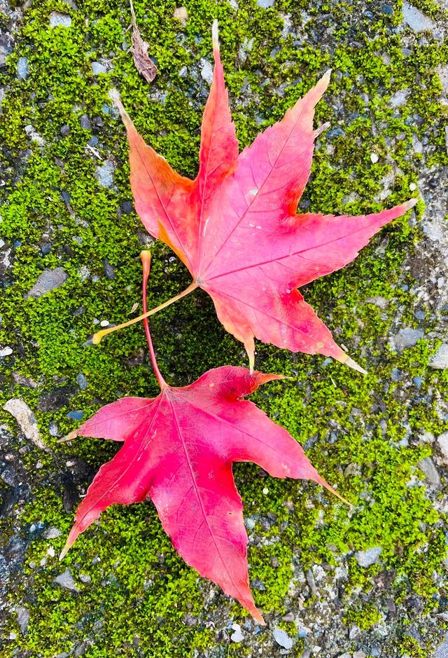
[[[321,132],[313,128],[314,107],[330,71],[238,155],[216,22],[213,43],[214,79],[194,181],[174,172],[146,146],[118,93],[113,95],[130,144],[136,210],[149,233],[169,245],[193,276],[193,284],[170,302],[196,287],[207,291],[225,329],[244,343],[251,369],[255,336],[293,352],[318,352],[363,371],[335,343],[297,288],[344,267],[381,226],[404,214],[416,199],[360,217],[296,214],[314,139]],[[107,333],[97,334],[96,342]]]

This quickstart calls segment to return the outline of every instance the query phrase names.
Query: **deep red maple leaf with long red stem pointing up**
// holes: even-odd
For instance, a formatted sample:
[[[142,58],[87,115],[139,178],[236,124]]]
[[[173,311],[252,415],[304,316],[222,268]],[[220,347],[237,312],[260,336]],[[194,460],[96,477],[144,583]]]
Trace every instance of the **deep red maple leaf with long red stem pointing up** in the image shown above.
[[[145,311],[148,254],[142,257]],[[223,366],[174,388],[160,374],[144,322],[161,392],[154,399],[124,397],[106,404],[64,439],[81,435],[124,444],[88,488],[61,559],[106,507],[151,498],[183,559],[264,623],[248,585],[247,535],[233,462],[254,462],[274,477],[311,479],[341,497],[283,427],[242,399],[281,376]]]

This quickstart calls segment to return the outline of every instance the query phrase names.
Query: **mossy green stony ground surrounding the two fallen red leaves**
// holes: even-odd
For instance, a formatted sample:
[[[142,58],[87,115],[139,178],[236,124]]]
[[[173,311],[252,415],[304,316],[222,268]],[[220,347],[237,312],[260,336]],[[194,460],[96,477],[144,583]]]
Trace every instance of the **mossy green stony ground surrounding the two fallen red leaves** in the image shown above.
[[[400,1],[276,0],[274,7],[262,8],[239,0],[238,11],[233,5],[186,1],[188,20],[182,25],[174,18],[174,2],[134,0],[159,69],[151,87],[127,52],[131,18],[122,0],[83,0],[77,9],[62,0],[33,3],[2,69],[6,184],[0,233],[11,248],[12,264],[1,290],[0,346],[9,345],[13,353],[1,364],[0,407],[12,397],[25,400],[52,449],[38,451],[0,411],[0,422],[15,434],[10,450],[20,455],[30,486],[20,514],[4,520],[6,542],[15,537],[27,544],[8,584],[10,615],[5,611],[0,640],[5,658],[279,652],[269,626],[255,630],[246,624],[246,641],[229,640],[232,631],[224,629],[234,622],[244,626],[244,611],[183,563],[150,504],[109,509],[64,563],[57,561],[77,496],[116,446],[93,439],[57,444],[55,434],[63,436],[80,422],[68,417],[72,411],[85,419],[117,397],[157,393],[141,326],[99,346],[86,344],[97,328],[94,321],[130,317],[140,301],[139,252],[152,244],[132,210],[125,131],[109,89],[118,87],[146,140],[176,170],[194,177],[208,92],[200,59],[211,60],[210,26],[218,18],[241,147],[279,119],[325,69],[333,69],[316,117],[317,123],[330,121],[331,129],[318,140],[303,208],[379,210],[418,193],[409,185],[412,189],[418,181],[421,167],[448,164],[446,107],[436,73],[448,63],[448,46],[430,34],[408,38],[409,29],[400,27]],[[435,4],[418,5],[435,20],[446,20]],[[69,15],[71,26],[50,28],[54,11]],[[284,15],[289,32],[283,32]],[[0,20],[8,28],[8,17]],[[28,59],[25,79],[16,76],[19,57]],[[91,64],[102,58],[108,72],[94,75]],[[400,90],[409,90],[405,104],[393,107],[391,97]],[[81,127],[85,114],[90,128]],[[62,126],[69,130],[61,132]],[[92,137],[97,139],[89,147]],[[423,153],[414,151],[416,139]],[[379,156],[376,163],[372,153]],[[108,160],[115,166],[110,189],[95,177]],[[417,220],[423,209],[420,203]],[[254,402],[287,427],[323,477],[353,503],[346,507],[311,484],[267,479],[253,465],[235,468],[251,521],[255,601],[272,626],[280,625],[293,638],[297,625],[281,620],[286,612],[313,628],[314,640],[313,633],[302,633],[291,655],[318,646],[325,624],[337,629],[334,652],[325,640],[329,656],[357,647],[378,655],[375,643],[382,656],[426,656],[444,633],[443,618],[436,617],[446,601],[445,528],[437,504],[442,494],[428,489],[416,464],[431,454],[424,437],[446,428],[436,403],[447,390],[447,371],[428,368],[437,348],[430,337],[400,354],[389,344],[402,326],[421,327],[426,334],[434,328],[434,317],[410,292],[414,281],[402,267],[420,239],[418,221],[408,214],[381,231],[353,265],[304,290],[337,340],[368,369],[367,376],[322,357],[257,346],[259,369],[292,379],[266,385]],[[186,287],[189,277],[167,247],[151,248],[149,303],[155,306]],[[105,261],[113,278],[106,276]],[[68,274],[62,287],[25,299],[39,273],[60,266]],[[367,301],[372,298],[383,298],[381,308]],[[151,326],[169,383],[186,384],[221,364],[246,364],[242,345],[225,334],[201,292],[155,316]],[[80,373],[87,381],[83,390]],[[55,388],[64,392],[62,402],[42,404]],[[67,478],[77,494],[64,508]],[[8,486],[2,487],[0,496],[6,496]],[[50,527],[62,534],[45,539]],[[354,552],[377,546],[379,561],[359,566]],[[78,591],[53,582],[66,567]],[[309,569],[316,577],[314,596],[304,580]],[[18,607],[30,613],[25,636],[14,612]],[[361,640],[349,640],[353,624],[360,627]]]

